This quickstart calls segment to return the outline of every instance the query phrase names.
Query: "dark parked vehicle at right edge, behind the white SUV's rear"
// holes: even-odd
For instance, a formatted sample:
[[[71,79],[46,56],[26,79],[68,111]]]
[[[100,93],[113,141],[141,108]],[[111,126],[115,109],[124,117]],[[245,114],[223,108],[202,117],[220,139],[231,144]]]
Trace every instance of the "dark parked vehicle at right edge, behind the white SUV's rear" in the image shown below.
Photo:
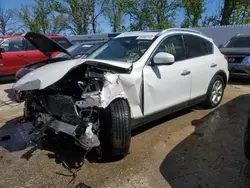
[[[250,35],[232,37],[220,51],[228,61],[231,78],[250,78]]]

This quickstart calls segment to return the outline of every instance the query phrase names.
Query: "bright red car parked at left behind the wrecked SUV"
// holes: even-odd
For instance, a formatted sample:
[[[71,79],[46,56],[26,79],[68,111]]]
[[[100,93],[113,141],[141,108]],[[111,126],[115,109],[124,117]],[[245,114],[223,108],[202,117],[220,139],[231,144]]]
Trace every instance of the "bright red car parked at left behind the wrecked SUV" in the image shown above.
[[[47,36],[63,48],[72,46],[64,36]],[[58,53],[53,54],[57,55]],[[13,75],[25,65],[48,59],[51,54],[43,54],[24,38],[24,35],[0,38],[0,76]]]

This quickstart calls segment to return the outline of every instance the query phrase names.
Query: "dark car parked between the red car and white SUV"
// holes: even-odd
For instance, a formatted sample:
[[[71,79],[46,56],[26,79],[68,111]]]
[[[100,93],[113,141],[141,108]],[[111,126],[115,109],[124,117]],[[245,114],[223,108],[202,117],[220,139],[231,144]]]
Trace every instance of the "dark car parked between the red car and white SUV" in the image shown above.
[[[49,39],[47,39],[49,40]],[[75,44],[67,49],[67,53],[61,52],[54,56],[53,58],[41,62],[36,62],[33,64],[26,65],[19,69],[15,75],[16,81],[22,78],[24,75],[28,74],[29,72],[42,67],[46,64],[55,63],[58,61],[69,60],[69,59],[77,59],[81,57],[86,57],[94,50],[105,44],[106,42],[88,42],[88,43],[80,43]],[[26,92],[15,91],[15,100],[16,102],[23,102],[25,99]]]

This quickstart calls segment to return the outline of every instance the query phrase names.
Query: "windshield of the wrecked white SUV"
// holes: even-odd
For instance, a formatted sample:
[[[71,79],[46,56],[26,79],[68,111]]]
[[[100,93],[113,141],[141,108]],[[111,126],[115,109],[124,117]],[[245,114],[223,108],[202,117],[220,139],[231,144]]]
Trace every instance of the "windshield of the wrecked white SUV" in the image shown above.
[[[138,36],[116,38],[94,51],[88,58],[133,63],[142,57],[152,43],[153,40]]]

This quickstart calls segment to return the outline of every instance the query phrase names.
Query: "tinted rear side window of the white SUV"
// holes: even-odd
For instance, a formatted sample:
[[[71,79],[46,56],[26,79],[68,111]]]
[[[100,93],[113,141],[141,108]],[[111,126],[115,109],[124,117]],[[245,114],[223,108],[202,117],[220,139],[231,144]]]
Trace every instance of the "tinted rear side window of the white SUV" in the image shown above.
[[[195,58],[213,53],[213,44],[201,37],[184,35],[187,58]]]

